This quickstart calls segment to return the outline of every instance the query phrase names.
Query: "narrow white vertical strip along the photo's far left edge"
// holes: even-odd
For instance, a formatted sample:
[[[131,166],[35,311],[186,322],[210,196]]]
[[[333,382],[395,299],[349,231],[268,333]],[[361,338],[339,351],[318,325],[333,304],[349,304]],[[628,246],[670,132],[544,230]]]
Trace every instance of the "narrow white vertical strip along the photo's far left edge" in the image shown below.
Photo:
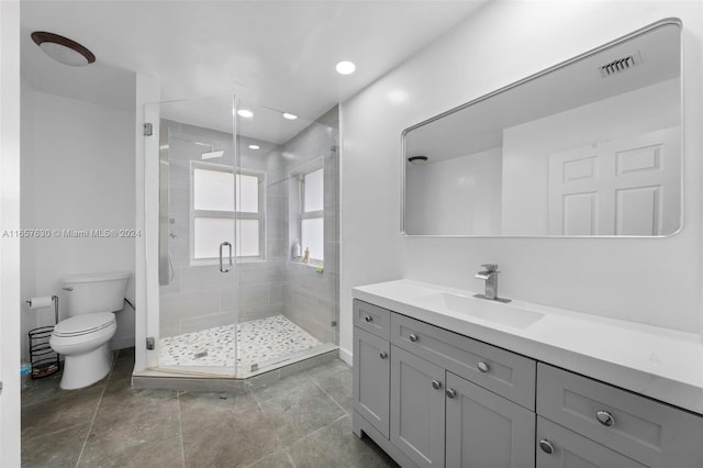
[[[0,2],[0,231],[20,227],[20,2]],[[20,466],[20,241],[0,242],[0,466]]]

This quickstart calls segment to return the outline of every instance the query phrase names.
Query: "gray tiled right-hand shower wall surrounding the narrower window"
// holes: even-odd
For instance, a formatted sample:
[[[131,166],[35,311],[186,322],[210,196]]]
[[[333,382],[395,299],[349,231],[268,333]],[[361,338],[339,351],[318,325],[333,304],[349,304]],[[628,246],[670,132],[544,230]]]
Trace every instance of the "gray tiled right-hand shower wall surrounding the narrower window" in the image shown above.
[[[290,260],[298,233],[295,180],[289,180],[286,203],[288,230],[283,263],[283,315],[323,343],[338,343],[338,108],[319,119],[283,145],[283,174],[299,174],[320,157],[324,158],[324,271]],[[290,234],[289,234],[290,233]],[[304,246],[303,246],[304,248]]]

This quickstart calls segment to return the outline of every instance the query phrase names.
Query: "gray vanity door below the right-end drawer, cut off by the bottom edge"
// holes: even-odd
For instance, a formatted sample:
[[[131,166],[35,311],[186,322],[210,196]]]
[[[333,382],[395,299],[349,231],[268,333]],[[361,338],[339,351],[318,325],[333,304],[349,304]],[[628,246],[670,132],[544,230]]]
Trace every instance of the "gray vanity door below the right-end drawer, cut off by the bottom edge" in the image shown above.
[[[537,416],[538,468],[645,468],[549,420]]]

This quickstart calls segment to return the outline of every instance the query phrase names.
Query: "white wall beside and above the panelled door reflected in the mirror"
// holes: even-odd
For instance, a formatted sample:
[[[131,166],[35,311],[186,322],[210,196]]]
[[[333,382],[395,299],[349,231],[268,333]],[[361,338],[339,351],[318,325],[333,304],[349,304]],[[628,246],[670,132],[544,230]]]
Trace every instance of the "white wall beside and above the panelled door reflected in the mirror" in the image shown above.
[[[679,126],[679,80],[667,80],[505,129],[503,234],[548,232],[551,153]]]

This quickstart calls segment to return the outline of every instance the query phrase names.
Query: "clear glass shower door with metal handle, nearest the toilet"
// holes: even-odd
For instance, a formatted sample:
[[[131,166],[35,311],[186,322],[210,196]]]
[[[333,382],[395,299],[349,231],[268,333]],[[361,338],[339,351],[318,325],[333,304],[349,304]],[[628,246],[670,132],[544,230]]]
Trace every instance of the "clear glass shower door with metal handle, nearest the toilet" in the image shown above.
[[[157,367],[233,377],[239,178],[234,99],[154,105],[159,140]]]

